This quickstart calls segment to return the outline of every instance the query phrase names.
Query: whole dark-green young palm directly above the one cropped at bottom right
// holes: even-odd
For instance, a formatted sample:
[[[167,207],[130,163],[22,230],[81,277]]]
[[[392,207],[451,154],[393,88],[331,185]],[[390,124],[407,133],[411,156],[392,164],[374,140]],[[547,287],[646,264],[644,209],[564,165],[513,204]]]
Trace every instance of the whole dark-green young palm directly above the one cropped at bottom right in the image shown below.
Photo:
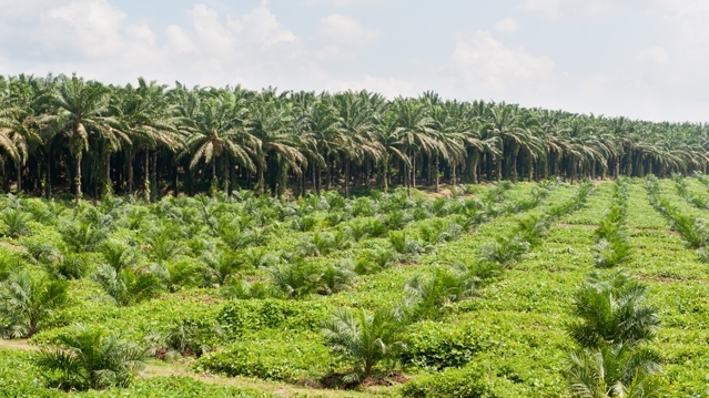
[[[569,335],[581,346],[638,345],[651,340],[659,326],[657,309],[646,304],[647,288],[627,274],[591,274],[574,295]]]

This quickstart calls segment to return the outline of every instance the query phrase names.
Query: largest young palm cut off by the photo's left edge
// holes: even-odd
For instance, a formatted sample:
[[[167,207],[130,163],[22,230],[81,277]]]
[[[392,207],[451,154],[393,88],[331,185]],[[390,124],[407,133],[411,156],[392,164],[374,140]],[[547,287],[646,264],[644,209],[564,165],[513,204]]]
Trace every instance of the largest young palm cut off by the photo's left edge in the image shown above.
[[[0,334],[14,338],[39,331],[67,304],[69,285],[21,269],[0,284]]]

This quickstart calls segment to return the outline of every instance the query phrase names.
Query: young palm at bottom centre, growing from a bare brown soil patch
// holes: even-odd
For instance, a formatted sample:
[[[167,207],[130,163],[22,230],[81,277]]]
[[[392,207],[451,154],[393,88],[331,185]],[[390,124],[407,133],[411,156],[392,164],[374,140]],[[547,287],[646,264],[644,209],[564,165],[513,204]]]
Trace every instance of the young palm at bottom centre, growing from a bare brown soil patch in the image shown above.
[[[402,326],[391,309],[375,313],[340,309],[324,322],[322,330],[327,346],[353,365],[343,381],[358,384],[371,377],[378,364],[394,359],[404,347],[399,339]]]

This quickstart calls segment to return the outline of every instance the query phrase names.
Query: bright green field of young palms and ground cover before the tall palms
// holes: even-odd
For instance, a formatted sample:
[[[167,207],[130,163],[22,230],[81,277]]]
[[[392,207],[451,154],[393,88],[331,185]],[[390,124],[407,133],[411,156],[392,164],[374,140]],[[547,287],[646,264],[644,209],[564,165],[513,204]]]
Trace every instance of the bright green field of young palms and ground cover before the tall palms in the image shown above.
[[[0,196],[0,396],[571,397],[602,357],[600,389],[709,397],[703,220],[701,174],[350,200]],[[601,296],[594,323],[584,297]],[[98,346],[129,365],[81,370]]]

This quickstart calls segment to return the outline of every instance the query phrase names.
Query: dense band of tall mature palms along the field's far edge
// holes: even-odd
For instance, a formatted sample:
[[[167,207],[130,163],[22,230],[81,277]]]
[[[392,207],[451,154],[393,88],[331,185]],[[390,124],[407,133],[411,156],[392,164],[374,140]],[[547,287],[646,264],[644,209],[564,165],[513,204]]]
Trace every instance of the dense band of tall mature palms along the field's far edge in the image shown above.
[[[706,171],[703,124],[362,92],[0,76],[3,191],[304,193]]]

